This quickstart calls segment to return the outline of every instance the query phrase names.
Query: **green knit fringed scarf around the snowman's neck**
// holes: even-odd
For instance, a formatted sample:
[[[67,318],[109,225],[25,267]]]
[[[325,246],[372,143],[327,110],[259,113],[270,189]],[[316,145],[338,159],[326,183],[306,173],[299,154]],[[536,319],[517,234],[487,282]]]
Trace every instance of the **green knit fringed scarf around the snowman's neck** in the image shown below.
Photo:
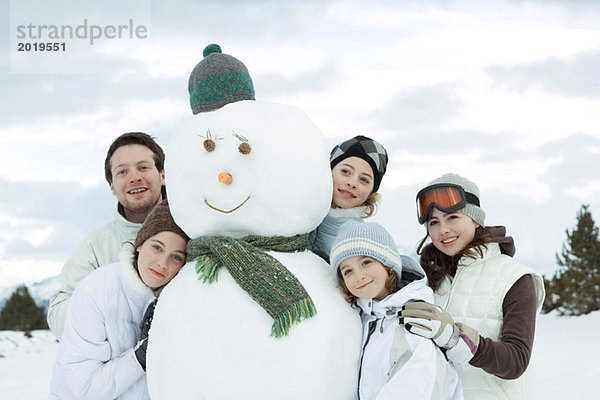
[[[219,268],[227,268],[233,279],[275,320],[271,336],[289,334],[291,325],[313,317],[317,309],[304,286],[266,251],[292,253],[309,247],[308,234],[292,237],[250,235],[201,236],[190,240],[187,256],[196,261],[198,279],[213,283]]]

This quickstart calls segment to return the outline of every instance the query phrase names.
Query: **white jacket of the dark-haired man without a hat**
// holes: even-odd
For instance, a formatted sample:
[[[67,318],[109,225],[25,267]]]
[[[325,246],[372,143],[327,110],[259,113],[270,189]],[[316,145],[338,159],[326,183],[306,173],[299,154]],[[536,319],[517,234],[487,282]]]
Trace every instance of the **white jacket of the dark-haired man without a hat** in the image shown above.
[[[117,262],[121,246],[128,240],[133,241],[141,226],[126,220],[117,210],[115,219],[86,237],[67,260],[62,268],[61,287],[50,298],[48,306],[48,326],[57,339],[62,336],[67,305],[75,285],[101,265]]]

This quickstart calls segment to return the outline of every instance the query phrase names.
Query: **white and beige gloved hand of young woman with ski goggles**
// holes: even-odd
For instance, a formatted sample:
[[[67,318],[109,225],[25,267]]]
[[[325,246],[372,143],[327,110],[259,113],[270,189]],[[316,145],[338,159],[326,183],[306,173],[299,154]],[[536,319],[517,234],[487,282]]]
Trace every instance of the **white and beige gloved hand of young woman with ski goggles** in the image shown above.
[[[473,358],[479,346],[479,333],[473,328],[455,323],[440,307],[424,301],[407,303],[399,313],[400,324],[415,335],[432,339],[446,350],[446,357],[457,364]]]

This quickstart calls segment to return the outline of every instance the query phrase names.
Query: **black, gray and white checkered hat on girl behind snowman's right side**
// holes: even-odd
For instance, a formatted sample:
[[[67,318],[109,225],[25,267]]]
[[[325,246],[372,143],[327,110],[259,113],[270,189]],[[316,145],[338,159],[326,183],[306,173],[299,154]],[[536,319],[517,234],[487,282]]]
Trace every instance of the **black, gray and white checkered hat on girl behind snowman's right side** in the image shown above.
[[[331,169],[348,157],[365,160],[373,170],[373,191],[376,192],[387,169],[388,156],[385,148],[377,141],[366,136],[355,136],[335,145],[329,156]]]

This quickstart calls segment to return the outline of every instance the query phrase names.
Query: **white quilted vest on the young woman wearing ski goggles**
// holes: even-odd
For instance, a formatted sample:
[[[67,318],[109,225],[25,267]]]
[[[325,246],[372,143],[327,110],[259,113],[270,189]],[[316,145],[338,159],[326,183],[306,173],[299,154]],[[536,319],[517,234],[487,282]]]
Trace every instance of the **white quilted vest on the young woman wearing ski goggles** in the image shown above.
[[[463,258],[453,281],[448,277],[435,293],[435,304],[494,341],[500,340],[506,293],[519,278],[533,278],[538,312],[544,301],[542,277],[533,269],[501,254],[498,243],[488,243],[482,258]],[[529,369],[518,379],[501,379],[470,364],[460,367],[466,399],[514,400],[531,397]]]

